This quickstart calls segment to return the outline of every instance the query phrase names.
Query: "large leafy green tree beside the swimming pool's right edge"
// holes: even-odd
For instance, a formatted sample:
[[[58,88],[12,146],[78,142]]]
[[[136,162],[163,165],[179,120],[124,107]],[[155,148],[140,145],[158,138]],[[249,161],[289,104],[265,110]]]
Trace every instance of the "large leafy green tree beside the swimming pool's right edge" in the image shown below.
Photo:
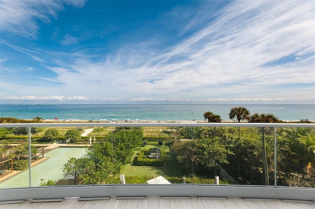
[[[87,147],[87,157],[68,160],[63,172],[80,184],[114,183],[122,165],[131,162],[142,135],[143,130],[138,127],[112,131],[106,134],[104,141]]]

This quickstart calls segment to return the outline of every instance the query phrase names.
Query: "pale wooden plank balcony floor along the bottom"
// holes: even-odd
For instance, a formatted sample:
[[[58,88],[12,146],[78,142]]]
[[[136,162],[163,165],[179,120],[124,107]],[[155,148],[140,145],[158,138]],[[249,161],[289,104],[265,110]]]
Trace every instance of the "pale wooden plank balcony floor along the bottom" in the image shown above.
[[[150,196],[143,199],[128,197],[110,197],[109,199],[80,200],[78,197],[63,198],[58,202],[22,203],[2,202],[5,209],[315,209],[314,201],[297,201],[281,199],[249,199],[239,197],[159,197]]]

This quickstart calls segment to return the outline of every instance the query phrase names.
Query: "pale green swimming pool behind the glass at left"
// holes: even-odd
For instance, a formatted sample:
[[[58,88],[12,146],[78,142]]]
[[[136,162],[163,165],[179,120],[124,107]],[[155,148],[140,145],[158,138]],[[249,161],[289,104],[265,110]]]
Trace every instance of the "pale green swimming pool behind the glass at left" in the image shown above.
[[[63,164],[71,157],[86,156],[85,148],[62,147],[52,150],[44,155],[47,160],[32,167],[32,186],[39,186],[40,179],[58,181],[63,179]],[[29,170],[0,183],[0,188],[29,187]]]

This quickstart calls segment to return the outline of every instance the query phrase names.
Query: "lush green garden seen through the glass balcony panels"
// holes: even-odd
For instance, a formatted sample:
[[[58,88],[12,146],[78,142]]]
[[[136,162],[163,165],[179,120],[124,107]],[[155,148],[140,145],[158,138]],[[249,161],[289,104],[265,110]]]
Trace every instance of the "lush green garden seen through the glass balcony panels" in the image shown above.
[[[210,117],[211,114],[206,115]],[[257,116],[258,117],[258,116]],[[86,127],[93,128],[93,127]],[[220,183],[315,186],[315,130],[308,128],[236,127],[98,127],[87,136],[84,128],[32,128],[32,143],[90,144],[87,157],[71,158],[63,166],[65,176],[77,184],[146,183],[163,176],[171,183]],[[25,128],[1,128],[1,153],[14,149],[8,143],[27,142]],[[277,173],[274,174],[274,138],[277,137]],[[67,140],[70,139],[70,140]],[[11,157],[16,169],[27,166],[26,154]],[[23,148],[23,149],[22,149]],[[158,148],[157,155],[148,154]],[[33,154],[33,153],[32,153]],[[24,160],[19,163],[18,160]],[[21,161],[22,162],[22,161]],[[25,165],[25,166],[24,166]],[[224,182],[221,169],[234,181]]]

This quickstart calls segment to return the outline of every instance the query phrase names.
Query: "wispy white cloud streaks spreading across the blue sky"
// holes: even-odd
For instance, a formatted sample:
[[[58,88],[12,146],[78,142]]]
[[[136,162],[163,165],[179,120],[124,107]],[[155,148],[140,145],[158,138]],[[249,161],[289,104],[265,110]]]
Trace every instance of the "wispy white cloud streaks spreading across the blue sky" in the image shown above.
[[[3,2],[8,12],[11,2]],[[34,19],[49,23],[63,10],[58,2],[47,12],[48,3],[40,1],[38,7],[46,11],[43,17],[27,14],[21,8],[33,5],[19,2],[15,8],[27,14],[25,21],[31,24],[17,29],[25,22],[16,16],[17,22],[5,19],[4,28],[10,31],[8,26],[13,25],[11,32],[36,37]],[[84,1],[67,1],[74,2],[80,2],[74,4],[80,8],[84,5]],[[174,42],[171,36],[160,38],[161,34],[126,42],[126,34],[110,49],[106,45],[92,48],[78,46],[79,36],[67,33],[59,43],[77,47],[69,52],[3,43],[54,74],[39,78],[58,88],[39,90],[29,85],[19,89],[23,95],[60,95],[62,91],[63,100],[81,100],[72,96],[82,95],[88,101],[137,102],[315,100],[314,1],[232,1],[215,13],[209,14],[210,9],[209,2],[203,2],[189,22],[180,24]],[[178,15],[178,10],[170,11],[168,18],[172,15]],[[165,40],[172,44],[163,45]]]

